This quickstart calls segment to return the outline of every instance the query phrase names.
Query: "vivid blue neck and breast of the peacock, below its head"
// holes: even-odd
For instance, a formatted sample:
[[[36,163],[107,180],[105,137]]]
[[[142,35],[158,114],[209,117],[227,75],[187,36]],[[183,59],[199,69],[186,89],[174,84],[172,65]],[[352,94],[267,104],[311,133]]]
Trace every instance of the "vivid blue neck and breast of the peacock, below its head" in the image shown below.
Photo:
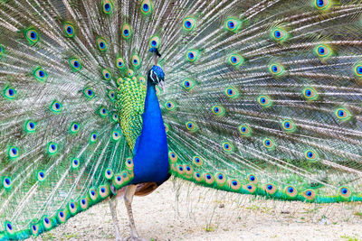
[[[155,181],[161,184],[169,177],[167,136],[156,89],[149,82],[142,118],[142,133],[134,149],[135,177],[132,183]]]

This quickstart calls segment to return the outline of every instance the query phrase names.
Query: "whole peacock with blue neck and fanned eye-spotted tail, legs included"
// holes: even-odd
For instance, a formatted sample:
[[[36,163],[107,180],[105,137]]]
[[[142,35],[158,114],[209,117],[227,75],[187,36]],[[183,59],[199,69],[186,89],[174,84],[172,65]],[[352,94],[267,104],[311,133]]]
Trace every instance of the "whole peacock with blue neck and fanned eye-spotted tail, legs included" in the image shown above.
[[[359,0],[0,0],[0,240],[170,176],[362,201]]]

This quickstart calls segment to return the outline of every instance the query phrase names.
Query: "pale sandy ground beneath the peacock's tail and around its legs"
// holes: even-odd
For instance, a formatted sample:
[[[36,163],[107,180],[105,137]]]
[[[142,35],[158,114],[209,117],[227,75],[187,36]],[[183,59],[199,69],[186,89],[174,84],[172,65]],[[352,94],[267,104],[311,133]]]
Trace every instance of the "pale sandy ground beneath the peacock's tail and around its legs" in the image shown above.
[[[362,240],[362,204],[316,205],[226,193],[167,181],[136,197],[140,236],[150,240]],[[129,236],[122,201],[119,227]],[[114,240],[108,202],[71,218],[36,240]]]

